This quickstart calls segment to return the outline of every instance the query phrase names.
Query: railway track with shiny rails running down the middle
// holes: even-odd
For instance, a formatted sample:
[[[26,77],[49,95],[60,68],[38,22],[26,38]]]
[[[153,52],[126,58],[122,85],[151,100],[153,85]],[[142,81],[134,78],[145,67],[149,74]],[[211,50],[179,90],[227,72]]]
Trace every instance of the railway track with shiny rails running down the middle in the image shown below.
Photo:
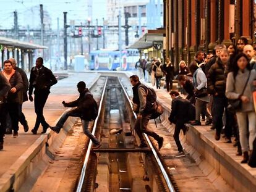
[[[108,77],[92,133],[103,147],[88,144],[76,191],[178,191],[164,169],[155,146],[138,148],[133,131],[136,115],[129,96],[116,77]]]

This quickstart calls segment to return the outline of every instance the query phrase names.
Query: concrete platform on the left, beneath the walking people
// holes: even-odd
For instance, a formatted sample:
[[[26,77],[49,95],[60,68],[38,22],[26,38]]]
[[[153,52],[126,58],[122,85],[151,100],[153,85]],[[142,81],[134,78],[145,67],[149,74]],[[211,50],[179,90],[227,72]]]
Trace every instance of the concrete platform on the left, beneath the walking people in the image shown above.
[[[90,88],[99,76],[98,73],[70,73],[68,78],[59,80],[51,88],[51,94],[49,94],[45,106],[44,114],[49,125],[55,125],[56,120],[67,109],[62,106],[61,101],[72,101],[77,98],[78,92],[76,85],[78,81],[85,81],[87,87]],[[53,142],[55,138],[53,131],[49,129],[45,134],[41,135],[41,127],[38,130],[38,135],[32,134],[31,130],[36,118],[33,102],[25,102],[23,104],[23,112],[30,130],[24,133],[22,126],[20,126],[18,138],[12,138],[12,135],[6,135],[4,150],[0,151],[0,191],[10,189],[17,191],[25,177],[24,175],[22,177],[21,174],[23,174],[24,170],[27,174],[32,171],[33,162],[35,162],[35,166],[36,161],[40,159],[38,152],[42,155],[42,152],[46,150],[46,142]],[[27,170],[28,165],[30,167]],[[18,178],[19,180],[17,180]]]

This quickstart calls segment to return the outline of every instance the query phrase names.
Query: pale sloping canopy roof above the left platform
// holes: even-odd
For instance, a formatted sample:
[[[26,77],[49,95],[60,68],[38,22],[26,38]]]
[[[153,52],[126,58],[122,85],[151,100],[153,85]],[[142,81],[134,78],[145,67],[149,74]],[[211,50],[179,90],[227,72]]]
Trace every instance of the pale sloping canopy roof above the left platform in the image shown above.
[[[42,46],[40,44],[28,43],[26,41],[14,40],[11,38],[6,38],[4,36],[0,36],[0,44],[2,46],[6,46],[6,47],[12,46],[14,48],[20,48],[20,49],[48,49],[47,46]]]

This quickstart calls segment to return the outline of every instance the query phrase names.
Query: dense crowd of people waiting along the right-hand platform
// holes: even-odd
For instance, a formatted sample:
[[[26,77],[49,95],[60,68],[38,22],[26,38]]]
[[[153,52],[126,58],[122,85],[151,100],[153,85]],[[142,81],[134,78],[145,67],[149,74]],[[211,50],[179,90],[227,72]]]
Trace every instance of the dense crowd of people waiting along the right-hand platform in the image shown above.
[[[236,45],[217,45],[213,54],[197,51],[194,61],[189,64],[189,73],[177,76],[186,91],[186,99],[195,105],[195,120],[190,123],[200,126],[206,117],[205,125],[211,125],[210,129],[216,130],[215,140],[220,140],[223,134],[226,143],[237,147],[236,155],[243,157],[241,163],[251,166],[256,166],[256,159],[252,159],[256,150],[255,58],[253,46],[247,44],[246,38],[239,38]],[[166,61],[169,62],[169,59]],[[171,91],[172,98],[178,97],[178,94]],[[173,116],[175,114],[170,116],[171,122]],[[184,123],[182,126],[185,126]],[[174,139],[179,138],[176,136]],[[179,152],[182,152],[179,141],[176,143]]]

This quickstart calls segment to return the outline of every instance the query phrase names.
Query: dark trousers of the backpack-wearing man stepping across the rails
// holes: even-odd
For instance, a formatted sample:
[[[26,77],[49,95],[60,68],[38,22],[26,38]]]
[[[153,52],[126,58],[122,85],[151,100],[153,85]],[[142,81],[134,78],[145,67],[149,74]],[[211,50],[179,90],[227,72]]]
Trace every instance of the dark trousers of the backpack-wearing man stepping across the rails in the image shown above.
[[[140,143],[145,143],[145,139],[142,133],[146,133],[147,135],[153,137],[156,141],[160,139],[159,135],[157,135],[155,132],[147,128],[148,121],[150,120],[150,116],[151,114],[145,114],[145,115],[142,115],[142,118],[140,119],[137,118],[135,121],[134,129],[140,138]]]

